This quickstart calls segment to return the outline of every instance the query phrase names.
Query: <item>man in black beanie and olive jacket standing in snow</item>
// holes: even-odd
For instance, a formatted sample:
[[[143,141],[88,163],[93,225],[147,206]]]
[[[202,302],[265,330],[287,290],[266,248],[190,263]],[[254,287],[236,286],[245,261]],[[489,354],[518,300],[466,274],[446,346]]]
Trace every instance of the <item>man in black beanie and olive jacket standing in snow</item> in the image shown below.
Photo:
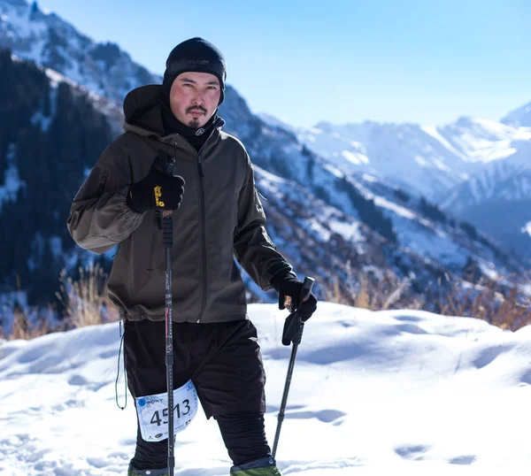
[[[277,290],[281,309],[291,296],[309,319],[317,299],[299,302],[302,283],[266,233],[250,158],[220,130],[225,80],[225,59],[212,43],[178,44],[162,85],[127,95],[126,132],[104,150],[68,219],[87,250],[119,244],[108,289],[125,320],[127,385],[139,423],[130,475],[167,473],[167,441],[145,438],[161,415],[142,414],[151,395],[166,392],[164,211],[173,211],[174,387],[193,382],[206,417],[218,422],[231,475],[281,474],[266,441],[266,377],[234,256],[262,289]],[[177,176],[161,172],[167,163]]]

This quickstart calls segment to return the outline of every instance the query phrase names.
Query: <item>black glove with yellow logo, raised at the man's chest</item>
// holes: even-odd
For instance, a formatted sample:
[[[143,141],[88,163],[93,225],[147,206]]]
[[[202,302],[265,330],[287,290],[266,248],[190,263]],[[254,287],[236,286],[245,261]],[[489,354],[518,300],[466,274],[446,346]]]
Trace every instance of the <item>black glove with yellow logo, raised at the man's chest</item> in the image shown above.
[[[184,179],[179,175],[166,175],[155,163],[150,172],[129,188],[127,204],[138,213],[147,210],[177,210],[184,194]]]

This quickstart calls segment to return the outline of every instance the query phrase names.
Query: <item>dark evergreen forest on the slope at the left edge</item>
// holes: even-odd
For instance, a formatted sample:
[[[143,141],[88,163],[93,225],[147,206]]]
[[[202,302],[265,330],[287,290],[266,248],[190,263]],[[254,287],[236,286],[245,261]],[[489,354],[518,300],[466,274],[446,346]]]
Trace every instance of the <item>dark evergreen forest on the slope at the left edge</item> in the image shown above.
[[[0,111],[0,180],[8,169],[19,177],[16,196],[0,203],[0,286],[19,283],[30,303],[49,303],[65,255],[77,247],[66,228],[70,205],[112,142],[111,128],[87,96],[66,83],[52,88],[9,50],[0,50]]]

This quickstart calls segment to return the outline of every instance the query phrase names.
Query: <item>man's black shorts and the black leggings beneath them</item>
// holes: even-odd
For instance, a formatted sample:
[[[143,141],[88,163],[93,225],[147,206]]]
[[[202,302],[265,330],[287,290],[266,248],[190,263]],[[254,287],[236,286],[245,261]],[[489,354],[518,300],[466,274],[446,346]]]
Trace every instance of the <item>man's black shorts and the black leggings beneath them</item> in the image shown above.
[[[131,395],[167,391],[164,321],[127,321],[124,349]],[[250,320],[173,323],[173,356],[174,388],[193,381],[206,417],[218,422],[233,463],[270,457],[264,427],[266,374]],[[176,456],[178,451],[177,443]],[[165,468],[167,440],[144,441],[138,426],[131,465],[138,470]]]

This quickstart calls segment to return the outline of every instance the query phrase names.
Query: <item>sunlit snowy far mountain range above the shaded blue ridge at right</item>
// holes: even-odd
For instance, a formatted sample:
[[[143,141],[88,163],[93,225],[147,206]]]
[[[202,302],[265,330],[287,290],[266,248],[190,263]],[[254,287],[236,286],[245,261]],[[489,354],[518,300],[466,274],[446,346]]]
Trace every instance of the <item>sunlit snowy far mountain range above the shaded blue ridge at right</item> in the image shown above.
[[[262,118],[272,126],[281,124],[271,116]],[[443,127],[366,121],[321,122],[290,130],[308,149],[345,173],[373,173],[435,201],[483,165],[521,155],[531,144],[531,128],[473,118],[460,118]]]

